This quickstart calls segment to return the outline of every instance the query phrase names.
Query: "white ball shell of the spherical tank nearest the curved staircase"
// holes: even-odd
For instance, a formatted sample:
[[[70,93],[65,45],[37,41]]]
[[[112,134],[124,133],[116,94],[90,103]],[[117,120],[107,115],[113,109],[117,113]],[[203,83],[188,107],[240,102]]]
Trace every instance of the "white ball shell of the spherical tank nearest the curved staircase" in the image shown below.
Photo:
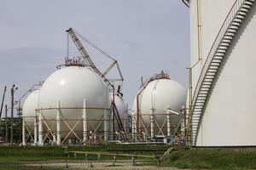
[[[152,136],[153,130],[154,135],[167,135],[166,107],[172,111],[181,112],[186,100],[185,88],[178,82],[164,78],[148,82],[139,92],[141,93],[137,94],[132,107],[132,116],[136,119],[137,133],[143,132]],[[154,124],[152,124],[152,115],[154,115]],[[175,126],[179,120],[180,115],[171,115],[171,121]],[[152,129],[152,125],[154,125],[154,129]]]

